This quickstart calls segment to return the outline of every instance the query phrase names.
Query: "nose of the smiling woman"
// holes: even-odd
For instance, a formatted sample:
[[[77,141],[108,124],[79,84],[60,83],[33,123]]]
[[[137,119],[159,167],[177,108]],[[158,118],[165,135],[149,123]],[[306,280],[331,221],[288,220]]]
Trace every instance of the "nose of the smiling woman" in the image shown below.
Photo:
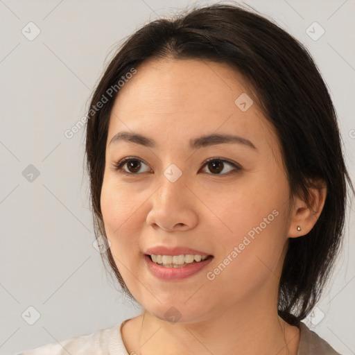
[[[162,184],[151,197],[146,222],[166,232],[185,231],[196,226],[196,196],[181,176],[175,182],[162,178]]]

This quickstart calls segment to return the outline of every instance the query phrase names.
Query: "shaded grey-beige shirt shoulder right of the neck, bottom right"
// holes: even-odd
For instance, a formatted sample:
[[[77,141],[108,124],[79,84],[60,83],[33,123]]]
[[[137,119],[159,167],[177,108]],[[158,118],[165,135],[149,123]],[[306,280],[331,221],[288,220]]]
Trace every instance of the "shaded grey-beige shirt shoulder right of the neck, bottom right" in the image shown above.
[[[300,345],[297,355],[340,355],[318,334],[300,322]]]

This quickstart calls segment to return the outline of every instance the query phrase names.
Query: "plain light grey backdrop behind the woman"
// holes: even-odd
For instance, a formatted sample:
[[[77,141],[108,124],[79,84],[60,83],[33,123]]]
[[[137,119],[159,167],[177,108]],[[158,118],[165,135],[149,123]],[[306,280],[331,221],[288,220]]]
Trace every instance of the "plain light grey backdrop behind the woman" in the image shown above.
[[[116,44],[192,3],[0,0],[1,354],[89,334],[139,313],[107,277],[92,245],[85,132],[67,139],[64,131],[85,115]],[[354,180],[354,1],[245,3],[275,19],[315,58],[336,105]],[[41,31],[34,40],[21,33],[30,31],[30,21]],[[325,31],[318,40],[306,33],[314,21]],[[354,214],[345,231],[331,287],[306,322],[341,354],[355,354]],[[40,318],[28,324],[37,312]]]

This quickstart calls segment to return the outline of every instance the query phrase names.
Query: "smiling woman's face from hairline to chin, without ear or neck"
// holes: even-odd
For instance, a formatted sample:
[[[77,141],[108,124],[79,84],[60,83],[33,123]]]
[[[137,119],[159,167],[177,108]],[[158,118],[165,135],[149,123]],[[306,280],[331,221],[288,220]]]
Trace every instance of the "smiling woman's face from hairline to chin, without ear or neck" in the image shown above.
[[[225,64],[150,60],[114,103],[101,192],[105,231],[125,284],[157,318],[192,322],[231,307],[276,306],[290,191],[277,137],[243,83]],[[119,132],[147,139],[110,144]],[[241,139],[201,139],[209,135]],[[125,157],[131,160],[116,170]],[[146,254],[212,257],[182,270]]]

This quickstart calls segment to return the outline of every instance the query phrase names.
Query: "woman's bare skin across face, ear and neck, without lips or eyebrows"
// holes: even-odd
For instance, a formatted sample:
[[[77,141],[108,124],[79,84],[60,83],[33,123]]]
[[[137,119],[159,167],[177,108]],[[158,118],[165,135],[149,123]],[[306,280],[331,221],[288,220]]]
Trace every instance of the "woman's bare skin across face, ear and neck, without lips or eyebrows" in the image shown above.
[[[252,97],[247,84],[227,64],[164,58],[137,67],[116,98],[101,209],[116,266],[144,308],[121,328],[129,354],[297,353],[299,329],[277,315],[279,276],[288,238],[311,230],[326,189],[311,190],[316,214],[302,199],[290,200],[272,125],[257,101],[246,112],[234,104],[242,93]],[[127,141],[110,145],[121,130],[150,137],[157,148]],[[257,150],[241,144],[189,148],[189,139],[211,133],[240,135]],[[114,170],[124,157],[141,160],[136,175]],[[211,157],[241,170],[224,163],[216,174],[204,164]],[[182,171],[175,182],[164,176],[171,164]],[[128,164],[124,169],[134,171]],[[278,216],[214,280],[207,279],[273,210]],[[144,261],[144,251],[156,245],[185,246],[214,259],[187,279],[161,280]],[[164,317],[171,306],[181,315],[178,322]]]

